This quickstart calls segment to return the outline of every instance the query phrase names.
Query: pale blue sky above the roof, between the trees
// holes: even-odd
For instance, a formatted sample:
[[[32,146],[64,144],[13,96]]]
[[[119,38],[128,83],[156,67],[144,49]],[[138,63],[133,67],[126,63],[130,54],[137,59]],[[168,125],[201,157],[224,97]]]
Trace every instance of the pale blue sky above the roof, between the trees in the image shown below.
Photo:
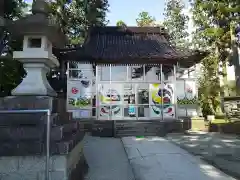
[[[26,0],[32,2],[32,0]],[[136,18],[142,11],[147,11],[157,21],[163,21],[166,0],[108,0],[110,7],[107,13],[108,25],[116,25],[118,20],[124,21],[128,26],[136,25]],[[187,0],[184,0],[187,1]]]

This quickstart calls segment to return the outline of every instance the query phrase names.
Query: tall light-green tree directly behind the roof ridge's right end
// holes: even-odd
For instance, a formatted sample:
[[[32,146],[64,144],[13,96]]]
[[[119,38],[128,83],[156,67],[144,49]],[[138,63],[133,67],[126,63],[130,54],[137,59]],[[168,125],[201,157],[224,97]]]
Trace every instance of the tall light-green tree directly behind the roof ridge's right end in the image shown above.
[[[175,46],[184,47],[188,44],[189,17],[183,13],[185,8],[182,0],[168,0],[165,8],[163,25],[167,28],[170,42]]]

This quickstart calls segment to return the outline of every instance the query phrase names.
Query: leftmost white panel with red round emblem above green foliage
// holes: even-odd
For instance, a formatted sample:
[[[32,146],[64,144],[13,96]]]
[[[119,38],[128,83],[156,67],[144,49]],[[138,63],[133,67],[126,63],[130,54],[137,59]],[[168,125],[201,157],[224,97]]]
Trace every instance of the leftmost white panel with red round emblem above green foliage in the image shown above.
[[[68,110],[88,109],[92,107],[92,84],[89,80],[68,81]]]

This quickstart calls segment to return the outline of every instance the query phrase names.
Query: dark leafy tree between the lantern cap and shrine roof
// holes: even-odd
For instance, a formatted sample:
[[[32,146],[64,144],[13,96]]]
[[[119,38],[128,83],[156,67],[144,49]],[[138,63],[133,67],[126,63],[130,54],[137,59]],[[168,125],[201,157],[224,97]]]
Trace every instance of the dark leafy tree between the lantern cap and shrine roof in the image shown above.
[[[71,45],[83,43],[85,33],[91,26],[107,24],[107,0],[58,0],[50,2],[51,13],[55,16]]]

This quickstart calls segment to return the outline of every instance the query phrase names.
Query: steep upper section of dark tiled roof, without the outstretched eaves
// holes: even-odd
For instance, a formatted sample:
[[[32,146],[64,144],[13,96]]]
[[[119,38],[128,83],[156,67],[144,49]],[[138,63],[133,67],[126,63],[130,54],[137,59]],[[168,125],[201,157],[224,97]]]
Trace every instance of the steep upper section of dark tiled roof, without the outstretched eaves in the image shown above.
[[[102,27],[90,31],[86,54],[100,61],[137,63],[178,58],[160,28]],[[153,61],[152,61],[153,62]]]

